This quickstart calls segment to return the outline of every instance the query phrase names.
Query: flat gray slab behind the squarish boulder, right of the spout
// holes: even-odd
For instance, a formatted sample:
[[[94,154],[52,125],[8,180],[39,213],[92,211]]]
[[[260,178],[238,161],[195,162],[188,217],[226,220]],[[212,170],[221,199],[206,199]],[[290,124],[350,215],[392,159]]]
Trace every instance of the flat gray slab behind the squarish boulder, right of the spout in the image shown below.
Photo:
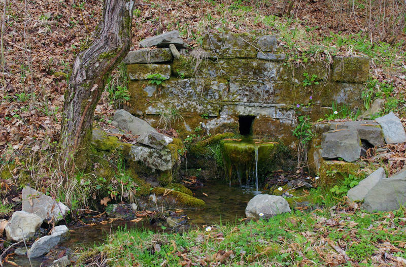
[[[375,147],[384,145],[382,129],[380,125],[373,120],[332,122],[330,124],[330,130],[337,129],[355,129],[358,131],[360,139],[368,141]]]

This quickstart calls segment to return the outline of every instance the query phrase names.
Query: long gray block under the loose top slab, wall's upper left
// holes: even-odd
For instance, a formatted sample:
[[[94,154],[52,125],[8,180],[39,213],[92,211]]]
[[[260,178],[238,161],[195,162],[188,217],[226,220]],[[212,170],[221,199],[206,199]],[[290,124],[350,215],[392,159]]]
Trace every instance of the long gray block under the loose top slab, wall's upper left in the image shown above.
[[[123,62],[126,64],[156,63],[171,61],[172,59],[173,56],[169,48],[156,48],[129,51]]]

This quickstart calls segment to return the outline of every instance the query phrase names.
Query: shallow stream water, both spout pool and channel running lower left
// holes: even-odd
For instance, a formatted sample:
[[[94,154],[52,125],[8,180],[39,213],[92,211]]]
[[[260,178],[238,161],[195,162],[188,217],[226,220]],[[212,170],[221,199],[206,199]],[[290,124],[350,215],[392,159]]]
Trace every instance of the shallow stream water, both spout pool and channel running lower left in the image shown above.
[[[212,225],[220,223],[238,223],[245,218],[247,203],[254,197],[254,189],[251,187],[229,187],[226,184],[210,181],[207,185],[192,190],[194,196],[206,202],[204,210],[184,210],[190,218],[192,227]],[[207,195],[205,195],[207,194]],[[29,262],[26,256],[12,255],[9,260],[19,266],[49,266],[54,258],[59,258],[65,253],[74,253],[80,247],[93,247],[95,244],[103,243],[110,233],[114,233],[119,227],[123,228],[144,228],[148,230],[162,231],[161,228],[153,228],[148,223],[133,223],[124,220],[111,220],[109,223],[95,223],[83,227],[70,226],[69,236],[61,239],[59,245],[50,253],[39,258],[31,259]],[[5,263],[4,266],[15,266]]]

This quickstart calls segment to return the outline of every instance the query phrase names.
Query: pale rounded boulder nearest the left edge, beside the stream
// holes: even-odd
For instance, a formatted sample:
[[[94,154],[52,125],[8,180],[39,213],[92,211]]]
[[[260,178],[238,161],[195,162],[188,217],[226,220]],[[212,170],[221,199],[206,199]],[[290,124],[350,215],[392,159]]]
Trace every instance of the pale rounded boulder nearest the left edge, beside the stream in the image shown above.
[[[36,214],[16,211],[6,225],[7,240],[21,241],[32,237],[41,226],[43,219]]]

